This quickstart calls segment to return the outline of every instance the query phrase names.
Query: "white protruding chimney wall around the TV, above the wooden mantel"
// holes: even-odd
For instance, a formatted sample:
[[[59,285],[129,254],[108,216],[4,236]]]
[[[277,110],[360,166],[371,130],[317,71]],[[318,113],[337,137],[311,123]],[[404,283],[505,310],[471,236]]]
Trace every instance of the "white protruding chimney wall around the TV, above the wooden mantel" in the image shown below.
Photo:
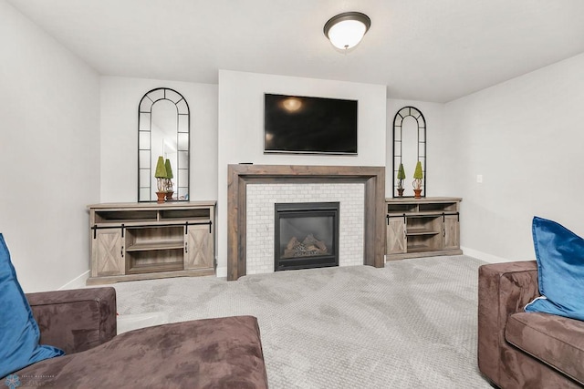
[[[359,155],[264,154],[264,93],[359,100]],[[227,273],[227,165],[385,166],[385,110],[385,86],[219,70],[217,275]]]

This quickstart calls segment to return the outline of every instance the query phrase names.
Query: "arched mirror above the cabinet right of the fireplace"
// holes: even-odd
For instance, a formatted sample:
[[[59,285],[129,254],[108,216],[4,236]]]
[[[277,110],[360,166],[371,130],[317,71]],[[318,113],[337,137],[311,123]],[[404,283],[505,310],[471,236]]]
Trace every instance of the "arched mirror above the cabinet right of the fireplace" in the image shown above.
[[[415,107],[402,107],[393,118],[393,197],[413,197],[414,172],[420,161],[422,197],[426,196],[426,120]],[[400,165],[403,170],[400,172]],[[401,179],[405,176],[405,179]]]

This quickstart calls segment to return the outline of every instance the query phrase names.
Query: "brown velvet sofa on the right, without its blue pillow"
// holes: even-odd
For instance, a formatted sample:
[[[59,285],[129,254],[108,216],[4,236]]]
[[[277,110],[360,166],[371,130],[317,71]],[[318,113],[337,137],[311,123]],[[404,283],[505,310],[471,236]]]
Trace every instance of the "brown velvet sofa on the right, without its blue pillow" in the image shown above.
[[[584,322],[525,312],[537,296],[536,261],[479,268],[480,371],[505,389],[584,386]]]

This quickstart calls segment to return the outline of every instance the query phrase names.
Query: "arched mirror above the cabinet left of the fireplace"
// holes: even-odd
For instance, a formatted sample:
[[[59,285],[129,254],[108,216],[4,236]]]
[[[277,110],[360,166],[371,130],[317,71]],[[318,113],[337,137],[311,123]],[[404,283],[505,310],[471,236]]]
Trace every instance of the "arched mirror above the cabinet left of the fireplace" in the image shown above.
[[[172,168],[172,198],[189,200],[189,105],[168,87],[146,93],[138,107],[138,201],[157,200],[154,174],[159,157]]]

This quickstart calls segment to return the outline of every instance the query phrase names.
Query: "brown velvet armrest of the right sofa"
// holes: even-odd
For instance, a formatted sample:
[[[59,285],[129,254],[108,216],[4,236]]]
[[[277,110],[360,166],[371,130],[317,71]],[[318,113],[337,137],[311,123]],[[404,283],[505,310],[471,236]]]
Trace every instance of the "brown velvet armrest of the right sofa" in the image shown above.
[[[478,365],[483,374],[500,384],[502,354],[509,315],[523,312],[539,296],[536,261],[483,265],[478,271]]]

